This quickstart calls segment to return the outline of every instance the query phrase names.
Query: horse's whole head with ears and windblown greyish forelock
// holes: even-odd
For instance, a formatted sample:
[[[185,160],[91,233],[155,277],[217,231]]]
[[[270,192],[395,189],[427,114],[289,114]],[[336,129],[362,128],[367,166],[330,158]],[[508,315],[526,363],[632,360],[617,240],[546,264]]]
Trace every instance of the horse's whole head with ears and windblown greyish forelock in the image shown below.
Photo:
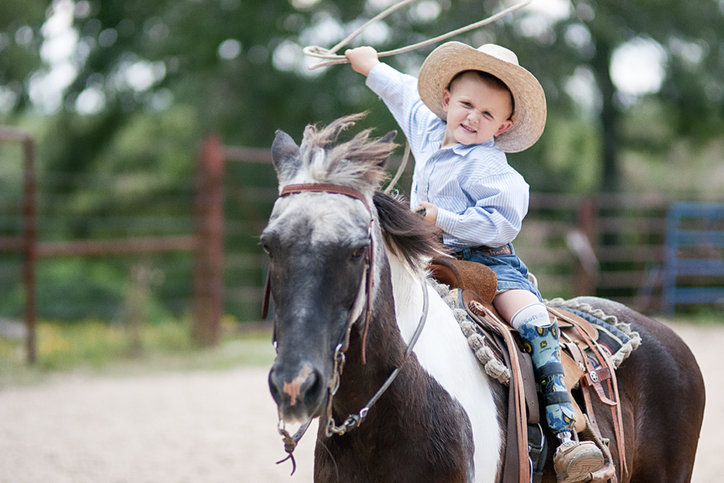
[[[330,148],[358,117],[337,119],[323,130],[308,126],[300,147],[277,132],[271,147],[282,196],[261,243],[269,254],[277,344],[269,387],[286,421],[319,415],[334,384],[335,351],[346,348],[350,330],[364,329],[359,322],[367,290],[373,290],[366,282],[374,279],[369,262],[372,252],[382,253],[372,198],[395,133],[371,141],[364,131]],[[300,185],[305,188],[295,190]]]

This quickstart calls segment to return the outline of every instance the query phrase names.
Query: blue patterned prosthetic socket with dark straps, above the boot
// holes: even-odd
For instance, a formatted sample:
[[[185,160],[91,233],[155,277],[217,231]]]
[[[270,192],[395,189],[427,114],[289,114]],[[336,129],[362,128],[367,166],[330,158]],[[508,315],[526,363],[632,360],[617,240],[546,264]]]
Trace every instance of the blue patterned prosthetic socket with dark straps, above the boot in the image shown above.
[[[542,304],[536,305],[542,306]],[[521,312],[515,314],[513,319],[517,318]],[[546,322],[548,321],[547,317],[546,313]],[[526,317],[526,319],[530,319],[530,316]],[[540,322],[540,320],[540,318],[536,318],[531,322]],[[515,327],[515,324],[513,324],[513,327]],[[533,361],[536,378],[545,401],[548,427],[556,434],[570,432],[576,423],[576,414],[573,412],[571,398],[568,396],[565,387],[563,364],[560,363],[557,321],[552,324],[548,322],[546,325],[529,322],[516,328],[523,339],[523,348],[531,355]]]

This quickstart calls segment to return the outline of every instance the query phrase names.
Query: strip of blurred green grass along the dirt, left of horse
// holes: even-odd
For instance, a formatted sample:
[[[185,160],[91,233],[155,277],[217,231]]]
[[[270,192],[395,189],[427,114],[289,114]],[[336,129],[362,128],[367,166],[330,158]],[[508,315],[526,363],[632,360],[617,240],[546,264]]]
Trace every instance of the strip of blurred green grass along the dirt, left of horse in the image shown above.
[[[34,385],[55,374],[73,372],[133,376],[271,366],[274,348],[269,329],[240,327],[243,324],[224,319],[219,345],[198,348],[191,340],[188,321],[146,324],[138,337],[131,337],[125,327],[98,321],[40,322],[33,365],[27,362],[24,340],[0,336],[0,388]]]

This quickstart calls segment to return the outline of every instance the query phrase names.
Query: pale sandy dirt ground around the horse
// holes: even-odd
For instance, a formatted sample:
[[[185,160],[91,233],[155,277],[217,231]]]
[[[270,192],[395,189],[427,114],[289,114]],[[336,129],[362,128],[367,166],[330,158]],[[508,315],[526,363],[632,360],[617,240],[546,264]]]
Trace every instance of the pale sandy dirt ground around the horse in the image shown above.
[[[724,327],[674,326],[707,384],[692,482],[724,473]],[[295,452],[277,434],[266,368],[146,377],[63,376],[0,391],[0,482],[311,482],[311,427]],[[662,401],[662,403],[664,403]],[[673,424],[686,424],[686,420]]]

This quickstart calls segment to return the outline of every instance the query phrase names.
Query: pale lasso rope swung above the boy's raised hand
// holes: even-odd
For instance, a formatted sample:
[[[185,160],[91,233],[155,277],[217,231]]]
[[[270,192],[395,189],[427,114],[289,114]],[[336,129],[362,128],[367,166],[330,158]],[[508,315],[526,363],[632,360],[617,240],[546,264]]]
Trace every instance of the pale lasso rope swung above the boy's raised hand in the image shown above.
[[[392,7],[384,10],[383,12],[380,12],[375,17],[373,17],[371,20],[366,22],[364,25],[362,25],[360,28],[355,30],[353,33],[350,33],[350,35],[347,36],[344,40],[340,41],[340,43],[337,43],[336,46],[332,47],[332,49],[324,49],[324,47],[319,46],[307,46],[303,49],[304,54],[315,57],[316,59],[323,59],[320,62],[317,62],[316,64],[312,64],[309,67],[309,70],[317,69],[318,67],[326,67],[327,65],[333,65],[333,64],[345,64],[348,61],[347,57],[343,55],[337,55],[336,52],[348,43],[353,40],[357,35],[360,35],[363,30],[368,28],[370,25],[372,25],[374,22],[378,22],[379,20],[382,20],[384,17],[387,17],[387,15],[391,14],[392,12],[395,12],[397,9],[401,9],[402,7],[405,7],[408,4],[411,4],[413,1],[416,0],[403,0],[399,3],[392,5]],[[413,43],[411,46],[401,47],[400,49],[385,51],[385,52],[379,52],[377,54],[378,57],[386,57],[390,55],[397,55],[397,54],[403,54],[403,52],[409,52],[415,49],[419,49],[420,47],[429,46],[432,43],[436,43],[439,41],[444,41],[447,38],[454,37],[455,35],[460,35],[461,33],[466,33],[468,30],[474,30],[476,28],[482,27],[483,25],[487,25],[490,22],[494,22],[495,20],[498,20],[500,17],[505,17],[505,15],[509,14],[510,12],[513,12],[517,9],[521,9],[525,7],[526,5],[530,4],[533,0],[523,0],[518,4],[513,5],[513,7],[508,7],[505,10],[502,10],[501,12],[498,12],[497,14],[494,14],[487,19],[480,20],[479,22],[471,23],[470,25],[467,25],[466,27],[458,28],[457,30],[452,30],[452,32],[445,33],[443,35],[439,35],[435,38],[431,38],[426,41]]]

